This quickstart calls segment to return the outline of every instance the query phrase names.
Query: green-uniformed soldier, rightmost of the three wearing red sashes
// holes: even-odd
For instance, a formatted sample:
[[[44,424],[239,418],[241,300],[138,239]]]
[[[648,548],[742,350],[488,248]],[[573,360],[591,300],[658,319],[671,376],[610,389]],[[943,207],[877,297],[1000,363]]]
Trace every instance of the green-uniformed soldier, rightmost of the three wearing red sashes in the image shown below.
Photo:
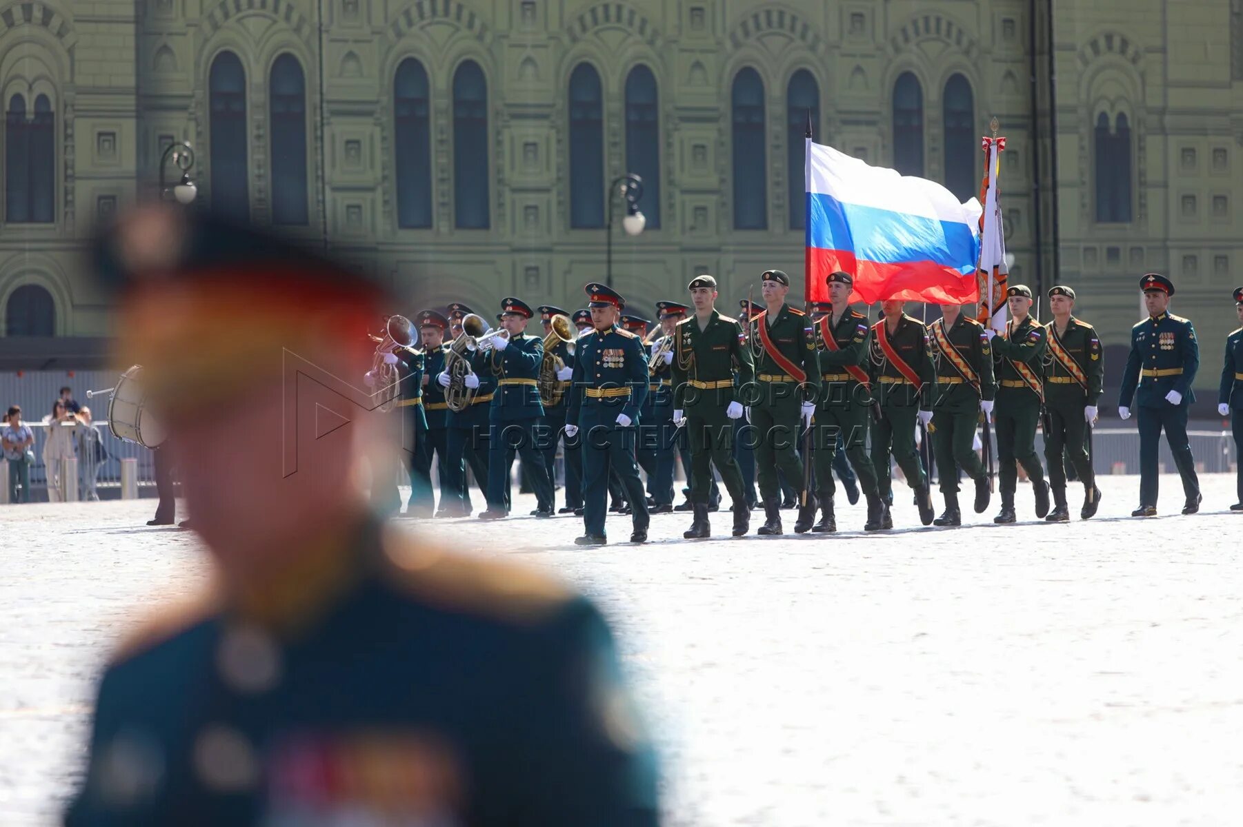
[[[884,318],[871,328],[871,380],[881,411],[871,430],[871,464],[880,495],[886,503],[892,502],[892,453],[906,484],[915,492],[920,522],[930,525],[936,512],[927,473],[915,448],[915,427],[922,422],[926,432],[932,421],[932,359],[927,328],[906,315],[904,307],[897,299],[883,302]]]

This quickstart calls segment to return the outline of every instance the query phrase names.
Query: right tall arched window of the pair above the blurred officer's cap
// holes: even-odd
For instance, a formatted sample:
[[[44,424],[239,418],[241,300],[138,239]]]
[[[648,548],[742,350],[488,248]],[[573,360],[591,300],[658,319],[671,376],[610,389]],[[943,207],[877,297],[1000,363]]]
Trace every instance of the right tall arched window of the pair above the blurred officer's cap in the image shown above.
[[[272,63],[272,224],[307,224],[306,82],[293,55]]]

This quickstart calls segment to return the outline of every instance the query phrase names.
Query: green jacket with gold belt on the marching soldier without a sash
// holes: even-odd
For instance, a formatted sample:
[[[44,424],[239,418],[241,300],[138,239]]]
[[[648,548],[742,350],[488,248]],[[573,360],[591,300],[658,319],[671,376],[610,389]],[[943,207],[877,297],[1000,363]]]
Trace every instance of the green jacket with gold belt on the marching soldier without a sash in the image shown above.
[[[751,351],[737,319],[712,315],[700,330],[695,315],[677,323],[674,346],[674,407],[690,414],[699,406],[725,410],[740,401],[740,389],[755,381]],[[735,380],[737,370],[737,380]],[[696,387],[691,382],[728,382],[720,387]]]

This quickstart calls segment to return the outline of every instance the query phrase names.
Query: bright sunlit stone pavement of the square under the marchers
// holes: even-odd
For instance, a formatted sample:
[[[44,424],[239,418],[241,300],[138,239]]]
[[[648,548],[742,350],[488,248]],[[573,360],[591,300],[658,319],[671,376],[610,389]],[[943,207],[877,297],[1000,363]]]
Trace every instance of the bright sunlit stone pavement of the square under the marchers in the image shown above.
[[[684,541],[685,514],[645,546],[578,550],[571,517],[429,534],[599,601],[663,751],[667,823],[1237,825],[1243,514],[1224,510],[1232,477],[1203,482],[1186,518],[1177,478],[1170,517],[1132,520],[1139,479],[1106,477],[1101,514],[1066,525],[1034,522],[1024,487],[1014,526],[993,510],[863,535],[860,504],[833,538]],[[55,821],[109,647],[205,576],[191,533],[142,525],[152,507],[0,509],[5,827]],[[905,497],[895,520],[917,524]]]

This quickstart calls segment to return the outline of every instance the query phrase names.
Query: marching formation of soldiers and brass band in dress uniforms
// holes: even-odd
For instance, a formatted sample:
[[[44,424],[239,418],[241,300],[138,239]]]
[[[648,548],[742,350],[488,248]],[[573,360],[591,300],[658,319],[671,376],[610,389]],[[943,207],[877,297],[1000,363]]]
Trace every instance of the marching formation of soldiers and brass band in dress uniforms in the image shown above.
[[[987,512],[994,473],[1001,503],[993,523],[1016,523],[1021,469],[1038,519],[1071,519],[1069,481],[1083,486],[1079,518],[1098,513],[1091,435],[1104,349],[1095,328],[1074,314],[1073,288],[1048,291],[1053,320],[1043,323],[1032,313],[1032,291],[1009,286],[1008,322],[994,329],[956,304],[925,324],[896,299],[881,302],[873,323],[849,304],[849,273],[825,281],[829,301],[803,309],[786,301],[789,276],[764,271],[762,301],[742,301],[738,319],[717,309],[717,283],[706,274],[686,286],[686,303],[658,302],[655,323],[625,313],[626,299],[599,283],[584,287],[588,307],[573,313],[547,304],[532,310],[511,297],[496,317],[503,333],[485,334],[477,346],[461,327],[470,308],[454,303],[444,313],[420,312],[423,346],[400,363],[399,405],[418,435],[406,515],[471,514],[469,467],[487,502],[479,518],[507,517],[515,456],[536,494],[532,515],[580,515],[579,545],[608,541],[610,510],[630,515],[633,543],[648,539],[651,514],[674,510],[691,512],[684,538],[711,536],[710,514],[722,508],[720,488],[730,498],[733,536],[751,531],[753,508],[763,509],[756,534],[783,534],[783,508],[797,508],[794,533],[833,533],[834,473],[851,503],[860,492],[865,498],[863,529],[889,530],[895,464],[922,525],[962,525],[962,484],[972,510]],[[1187,438],[1199,366],[1196,333],[1168,310],[1171,279],[1149,273],[1140,289],[1149,318],[1131,332],[1119,397],[1120,417],[1134,414],[1140,432],[1140,503],[1131,514],[1157,513],[1162,431],[1182,478],[1182,513],[1192,514],[1201,504]],[[1243,288],[1233,298],[1243,322]],[[537,314],[542,338],[525,333]],[[446,370],[454,350],[465,354],[464,376]],[[465,410],[449,410],[451,382],[474,391]],[[1227,341],[1218,412],[1233,418],[1241,443],[1243,328]],[[558,448],[566,468],[559,509]],[[675,456],[687,477],[681,505],[674,504]],[[434,458],[441,469],[439,508],[433,508]],[[1238,484],[1243,503],[1243,471]],[[1243,510],[1243,504],[1231,508]]]

